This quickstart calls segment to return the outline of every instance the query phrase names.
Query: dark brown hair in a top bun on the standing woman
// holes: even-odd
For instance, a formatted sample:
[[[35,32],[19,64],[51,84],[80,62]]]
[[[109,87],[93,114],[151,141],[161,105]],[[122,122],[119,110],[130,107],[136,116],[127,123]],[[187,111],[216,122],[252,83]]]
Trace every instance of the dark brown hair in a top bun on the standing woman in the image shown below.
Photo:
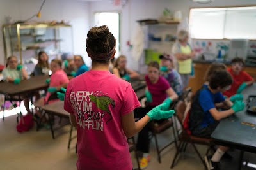
[[[92,27],[87,34],[86,51],[92,61],[100,63],[109,63],[109,60],[115,52],[116,39],[109,32],[106,25]]]

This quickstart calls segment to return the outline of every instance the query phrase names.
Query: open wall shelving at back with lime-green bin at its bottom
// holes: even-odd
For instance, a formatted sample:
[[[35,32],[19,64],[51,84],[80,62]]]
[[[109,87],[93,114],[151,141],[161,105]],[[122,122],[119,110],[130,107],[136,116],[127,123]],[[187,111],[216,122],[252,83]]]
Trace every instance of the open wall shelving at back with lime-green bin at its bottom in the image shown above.
[[[159,55],[172,53],[172,45],[175,43],[179,22],[144,24],[145,32],[144,57],[141,57],[140,72],[147,71],[147,64],[154,60],[159,62]]]

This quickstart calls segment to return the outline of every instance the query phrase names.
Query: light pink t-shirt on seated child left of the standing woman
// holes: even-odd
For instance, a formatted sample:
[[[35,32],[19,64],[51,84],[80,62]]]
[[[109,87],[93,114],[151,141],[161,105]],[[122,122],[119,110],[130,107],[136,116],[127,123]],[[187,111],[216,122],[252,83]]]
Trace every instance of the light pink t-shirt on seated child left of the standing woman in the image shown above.
[[[62,85],[68,82],[69,82],[69,79],[67,74],[62,69],[59,69],[55,73],[52,73],[49,87],[57,87],[59,85]],[[51,93],[47,92],[45,96],[45,102],[49,99],[50,96],[51,96]]]

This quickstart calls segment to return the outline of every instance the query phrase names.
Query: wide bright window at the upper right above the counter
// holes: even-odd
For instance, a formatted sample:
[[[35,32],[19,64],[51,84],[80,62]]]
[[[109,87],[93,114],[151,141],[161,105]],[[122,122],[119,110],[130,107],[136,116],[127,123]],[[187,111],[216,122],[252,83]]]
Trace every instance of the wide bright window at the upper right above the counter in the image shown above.
[[[256,39],[256,6],[193,8],[189,29],[191,38]]]

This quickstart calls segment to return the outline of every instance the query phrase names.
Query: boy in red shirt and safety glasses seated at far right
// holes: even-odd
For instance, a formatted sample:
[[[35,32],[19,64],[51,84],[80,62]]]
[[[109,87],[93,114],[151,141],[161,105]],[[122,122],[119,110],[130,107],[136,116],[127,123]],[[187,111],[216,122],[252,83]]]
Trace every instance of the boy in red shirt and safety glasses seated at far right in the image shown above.
[[[234,94],[240,94],[244,88],[248,85],[252,85],[254,82],[252,76],[243,71],[244,60],[236,57],[231,60],[231,68],[228,68],[228,72],[233,78],[231,88],[223,94],[227,97],[233,96]]]

